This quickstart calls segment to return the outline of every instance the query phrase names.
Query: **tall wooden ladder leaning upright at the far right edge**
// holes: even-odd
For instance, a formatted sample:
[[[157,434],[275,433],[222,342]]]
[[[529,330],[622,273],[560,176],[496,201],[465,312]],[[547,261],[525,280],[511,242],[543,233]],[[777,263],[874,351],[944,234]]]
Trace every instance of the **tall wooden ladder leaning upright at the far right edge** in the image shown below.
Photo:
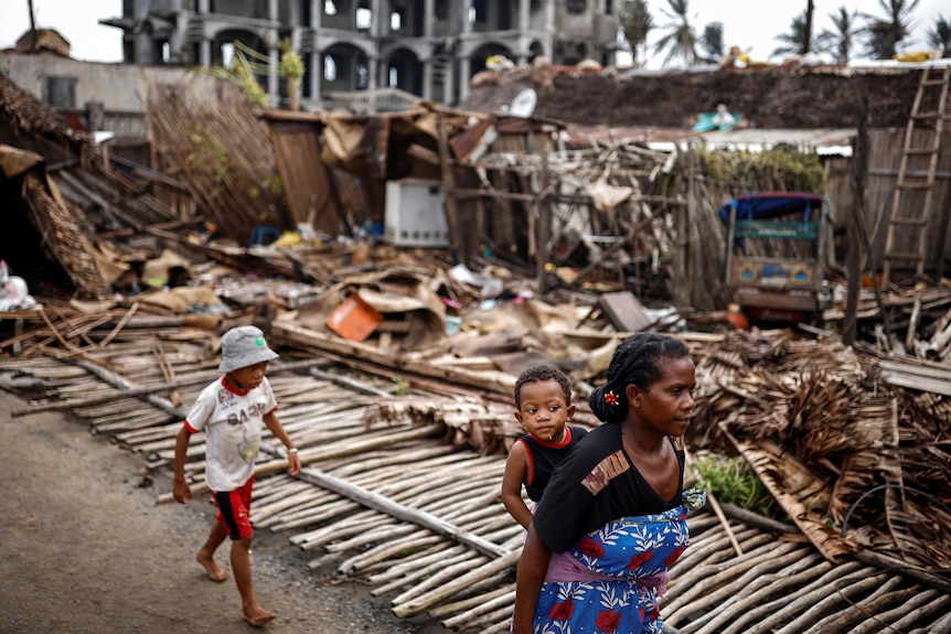
[[[893,262],[916,262],[916,275],[920,278],[925,273],[928,225],[934,206],[934,178],[948,110],[949,84],[951,66],[928,66],[921,72],[891,194],[881,269],[886,281],[890,278]],[[936,90],[940,92],[937,96]],[[930,142],[921,141],[926,135],[917,135],[919,130],[927,133]],[[905,239],[899,243],[901,236]],[[915,248],[912,244],[917,244],[917,250],[898,250],[899,244],[910,249]]]

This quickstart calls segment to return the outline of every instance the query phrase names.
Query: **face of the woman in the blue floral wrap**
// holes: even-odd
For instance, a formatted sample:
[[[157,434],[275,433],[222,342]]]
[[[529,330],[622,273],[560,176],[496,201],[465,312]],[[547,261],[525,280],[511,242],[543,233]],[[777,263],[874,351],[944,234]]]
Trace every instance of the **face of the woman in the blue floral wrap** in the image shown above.
[[[694,411],[696,368],[688,356],[662,358],[660,363],[661,378],[645,390],[630,386],[628,398],[641,423],[664,436],[683,436]]]

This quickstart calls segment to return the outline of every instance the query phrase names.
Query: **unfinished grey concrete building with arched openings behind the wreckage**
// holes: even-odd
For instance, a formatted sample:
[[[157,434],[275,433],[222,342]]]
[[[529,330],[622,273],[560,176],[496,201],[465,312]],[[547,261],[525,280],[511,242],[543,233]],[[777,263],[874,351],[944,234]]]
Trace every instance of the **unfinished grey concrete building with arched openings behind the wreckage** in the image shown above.
[[[270,60],[260,77],[273,105],[287,98],[279,43],[306,63],[304,109],[329,95],[398,88],[453,105],[469,79],[500,56],[515,64],[613,63],[620,0],[124,0],[122,30],[136,64],[224,65],[241,42]],[[503,62],[504,63],[504,62]]]

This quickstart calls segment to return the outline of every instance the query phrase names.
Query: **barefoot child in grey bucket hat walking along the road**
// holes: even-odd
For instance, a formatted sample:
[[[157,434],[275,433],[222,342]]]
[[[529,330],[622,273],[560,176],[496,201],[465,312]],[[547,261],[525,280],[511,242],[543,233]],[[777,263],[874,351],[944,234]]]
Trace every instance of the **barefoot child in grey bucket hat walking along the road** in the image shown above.
[[[277,401],[265,377],[267,363],[277,358],[255,326],[238,326],[222,336],[224,376],[199,395],[175,439],[173,496],[185,504],[192,491],[185,481],[185,456],[192,434],[205,432],[205,482],[218,507],[199,563],[213,581],[224,581],[227,572],[215,561],[215,551],[225,538],[232,540],[231,565],[242,598],[244,620],[255,627],[270,622],[275,614],[258,604],[250,576],[252,485],[255,456],[263,427],[267,427],[287,448],[291,475],[300,472],[297,449],[277,418]]]

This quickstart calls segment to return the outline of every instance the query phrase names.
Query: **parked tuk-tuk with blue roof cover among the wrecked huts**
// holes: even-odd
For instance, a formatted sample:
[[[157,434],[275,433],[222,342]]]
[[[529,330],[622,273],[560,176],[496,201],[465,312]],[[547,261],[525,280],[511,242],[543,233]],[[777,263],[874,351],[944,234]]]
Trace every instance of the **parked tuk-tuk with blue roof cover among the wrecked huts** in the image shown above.
[[[726,203],[726,283],[752,319],[810,321],[826,289],[829,198],[804,192],[750,193]]]

